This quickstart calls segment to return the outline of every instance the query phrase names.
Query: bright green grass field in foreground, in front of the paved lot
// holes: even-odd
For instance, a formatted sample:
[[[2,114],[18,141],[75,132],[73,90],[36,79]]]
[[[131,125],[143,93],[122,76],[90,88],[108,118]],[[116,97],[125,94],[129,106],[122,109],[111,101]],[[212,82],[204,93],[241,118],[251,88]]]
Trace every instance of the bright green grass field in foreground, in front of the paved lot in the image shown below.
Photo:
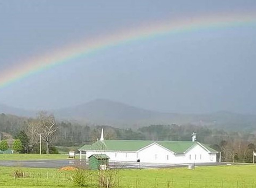
[[[14,178],[15,170],[27,178]],[[97,171],[88,178],[88,188],[97,188]],[[72,172],[58,169],[0,167],[1,188],[76,187]],[[121,170],[119,188],[256,188],[256,165]]]

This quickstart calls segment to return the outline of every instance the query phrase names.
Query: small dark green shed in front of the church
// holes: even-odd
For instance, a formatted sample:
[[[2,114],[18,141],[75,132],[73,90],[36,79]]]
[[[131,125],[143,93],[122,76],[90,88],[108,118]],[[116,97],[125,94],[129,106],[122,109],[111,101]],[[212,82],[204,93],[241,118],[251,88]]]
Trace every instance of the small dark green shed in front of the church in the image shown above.
[[[99,170],[101,165],[105,165],[105,167],[109,166],[109,156],[106,154],[93,154],[88,159],[91,170]]]

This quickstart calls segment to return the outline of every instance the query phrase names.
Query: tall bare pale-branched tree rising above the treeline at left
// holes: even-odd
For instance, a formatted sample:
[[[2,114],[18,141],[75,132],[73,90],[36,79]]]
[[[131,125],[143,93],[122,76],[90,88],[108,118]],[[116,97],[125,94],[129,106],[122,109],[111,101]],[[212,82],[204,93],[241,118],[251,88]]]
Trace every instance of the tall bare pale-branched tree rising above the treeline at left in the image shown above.
[[[49,145],[58,130],[55,117],[52,114],[47,114],[46,111],[41,111],[38,115],[38,120],[40,122],[42,139],[46,142],[46,154],[49,154]]]

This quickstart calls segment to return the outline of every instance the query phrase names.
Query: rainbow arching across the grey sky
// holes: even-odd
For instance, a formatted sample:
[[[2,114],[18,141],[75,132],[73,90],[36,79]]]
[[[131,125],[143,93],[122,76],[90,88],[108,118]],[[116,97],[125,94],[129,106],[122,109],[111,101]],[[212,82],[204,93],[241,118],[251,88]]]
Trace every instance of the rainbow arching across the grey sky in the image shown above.
[[[151,40],[155,37],[176,33],[193,32],[201,29],[256,26],[256,14],[218,14],[214,16],[189,17],[188,19],[164,21],[162,23],[142,25],[135,29],[123,29],[104,37],[92,37],[89,40],[55,50],[40,57],[32,57],[18,62],[11,69],[0,71],[0,89],[32,74],[37,74],[56,65],[70,62],[71,59],[86,57],[101,50],[126,45],[133,41]]]

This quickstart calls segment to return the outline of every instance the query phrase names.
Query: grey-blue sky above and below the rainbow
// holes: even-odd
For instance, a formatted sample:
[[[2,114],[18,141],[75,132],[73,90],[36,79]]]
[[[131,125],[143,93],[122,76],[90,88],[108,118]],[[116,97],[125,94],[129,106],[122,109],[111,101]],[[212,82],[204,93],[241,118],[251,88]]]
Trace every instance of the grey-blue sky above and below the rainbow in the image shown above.
[[[0,0],[0,79],[81,41],[250,12],[255,0]],[[113,45],[0,87],[0,103],[48,110],[105,98],[161,112],[256,114],[255,33],[254,23]]]

